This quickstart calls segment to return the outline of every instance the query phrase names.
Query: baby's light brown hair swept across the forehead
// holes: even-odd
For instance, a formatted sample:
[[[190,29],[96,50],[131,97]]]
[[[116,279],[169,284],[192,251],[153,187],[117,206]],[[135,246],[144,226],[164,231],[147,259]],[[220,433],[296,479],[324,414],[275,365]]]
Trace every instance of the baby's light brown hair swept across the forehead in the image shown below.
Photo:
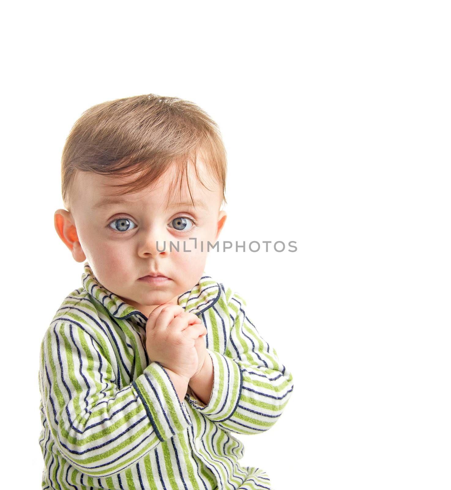
[[[127,177],[139,172],[131,182],[112,185],[121,194],[141,191],[176,165],[178,178],[188,183],[188,164],[201,157],[222,188],[225,198],[227,157],[217,124],[193,102],[155,94],[119,98],[87,109],[71,128],[61,158],[61,193],[71,211],[76,172]],[[192,196],[191,196],[192,200]]]

